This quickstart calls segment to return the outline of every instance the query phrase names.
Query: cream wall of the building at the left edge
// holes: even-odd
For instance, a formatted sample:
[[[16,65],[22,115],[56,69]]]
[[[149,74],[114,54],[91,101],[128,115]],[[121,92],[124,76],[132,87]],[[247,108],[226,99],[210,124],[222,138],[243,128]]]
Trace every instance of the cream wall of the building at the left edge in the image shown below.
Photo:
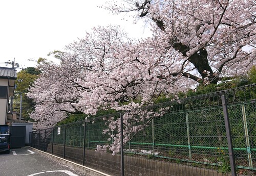
[[[0,79],[0,86],[8,86],[8,80]],[[0,98],[0,124],[6,123],[8,98]]]

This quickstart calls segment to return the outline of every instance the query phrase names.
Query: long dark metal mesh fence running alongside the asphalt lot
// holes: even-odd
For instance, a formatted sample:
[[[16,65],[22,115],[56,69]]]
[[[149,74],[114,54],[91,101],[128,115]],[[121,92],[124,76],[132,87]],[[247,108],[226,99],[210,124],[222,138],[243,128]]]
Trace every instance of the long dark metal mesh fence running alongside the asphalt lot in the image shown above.
[[[111,175],[255,175],[255,95],[253,84],[79,121],[31,132],[30,145]],[[118,143],[120,114],[123,148],[96,152]]]

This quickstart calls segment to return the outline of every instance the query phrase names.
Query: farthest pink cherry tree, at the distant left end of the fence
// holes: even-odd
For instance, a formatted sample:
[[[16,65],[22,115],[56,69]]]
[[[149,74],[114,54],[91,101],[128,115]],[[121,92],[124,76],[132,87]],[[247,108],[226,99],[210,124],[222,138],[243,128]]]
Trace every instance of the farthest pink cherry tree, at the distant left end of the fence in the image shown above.
[[[63,62],[58,65],[44,61],[38,65],[42,73],[27,94],[36,104],[30,117],[35,120],[37,128],[52,127],[65,119],[67,113],[80,112],[72,106],[79,99],[82,89],[74,84],[78,76],[75,72],[77,69],[73,69],[74,64],[67,65]]]

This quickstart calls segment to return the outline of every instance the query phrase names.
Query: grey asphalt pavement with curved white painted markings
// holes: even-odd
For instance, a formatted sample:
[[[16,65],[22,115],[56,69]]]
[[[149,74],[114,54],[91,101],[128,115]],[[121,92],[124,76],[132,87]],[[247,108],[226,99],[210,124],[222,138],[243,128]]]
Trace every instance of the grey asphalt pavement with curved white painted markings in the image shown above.
[[[0,176],[86,176],[29,148],[11,149],[0,153]]]

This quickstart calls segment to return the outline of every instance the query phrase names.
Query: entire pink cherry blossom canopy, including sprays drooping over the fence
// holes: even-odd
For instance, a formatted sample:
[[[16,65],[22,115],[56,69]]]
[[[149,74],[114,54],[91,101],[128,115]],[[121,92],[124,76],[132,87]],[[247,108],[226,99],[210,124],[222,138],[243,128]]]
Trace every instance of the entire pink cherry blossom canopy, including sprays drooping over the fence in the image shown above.
[[[67,113],[90,118],[99,109],[138,109],[160,95],[217,84],[255,65],[253,0],[123,2],[113,1],[108,8],[136,12],[136,19],[151,24],[152,37],[133,39],[118,26],[97,27],[55,53],[60,64],[42,64],[42,74],[28,94],[36,103],[31,118],[38,125],[54,125]],[[140,119],[124,115],[129,121],[125,141],[144,128],[141,121],[161,114]],[[108,121],[108,128],[120,131],[118,120]],[[108,147],[116,153],[119,135],[110,138],[115,142]]]

